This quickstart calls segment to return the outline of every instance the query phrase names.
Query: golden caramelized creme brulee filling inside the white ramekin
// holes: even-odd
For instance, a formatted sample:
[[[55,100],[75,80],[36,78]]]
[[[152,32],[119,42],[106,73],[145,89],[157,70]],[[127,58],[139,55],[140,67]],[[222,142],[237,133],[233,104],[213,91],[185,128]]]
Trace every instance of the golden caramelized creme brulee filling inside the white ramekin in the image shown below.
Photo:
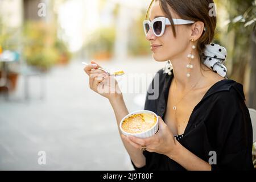
[[[156,116],[152,113],[132,114],[123,121],[122,129],[127,133],[142,133],[151,129],[156,120]]]

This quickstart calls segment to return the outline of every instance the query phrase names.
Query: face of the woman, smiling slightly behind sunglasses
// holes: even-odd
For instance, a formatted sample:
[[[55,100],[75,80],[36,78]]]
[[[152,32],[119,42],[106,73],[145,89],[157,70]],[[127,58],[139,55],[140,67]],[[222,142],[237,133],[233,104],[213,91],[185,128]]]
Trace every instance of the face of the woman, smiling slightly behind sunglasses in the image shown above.
[[[173,10],[170,9],[170,12],[172,18],[180,19]],[[150,21],[152,21],[156,16],[166,17],[160,8],[158,1],[154,1],[151,6],[149,12]],[[154,35],[152,28],[148,31],[146,39],[150,41],[151,51],[153,52],[153,57],[156,61],[173,60],[176,57],[180,57],[181,54],[184,54],[184,52],[189,48],[189,41],[191,38],[191,29],[189,26],[175,25],[175,30],[176,38],[174,37],[170,25],[166,26],[164,34],[160,37]]]

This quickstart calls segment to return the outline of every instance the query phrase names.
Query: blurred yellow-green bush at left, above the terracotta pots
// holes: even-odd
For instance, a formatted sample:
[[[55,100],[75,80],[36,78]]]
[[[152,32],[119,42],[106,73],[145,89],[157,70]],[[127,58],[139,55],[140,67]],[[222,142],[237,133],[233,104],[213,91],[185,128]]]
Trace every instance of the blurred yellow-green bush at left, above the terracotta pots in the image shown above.
[[[24,57],[28,64],[46,71],[53,67],[63,54],[70,57],[67,46],[56,38],[56,28],[43,22],[26,22],[24,25]]]

